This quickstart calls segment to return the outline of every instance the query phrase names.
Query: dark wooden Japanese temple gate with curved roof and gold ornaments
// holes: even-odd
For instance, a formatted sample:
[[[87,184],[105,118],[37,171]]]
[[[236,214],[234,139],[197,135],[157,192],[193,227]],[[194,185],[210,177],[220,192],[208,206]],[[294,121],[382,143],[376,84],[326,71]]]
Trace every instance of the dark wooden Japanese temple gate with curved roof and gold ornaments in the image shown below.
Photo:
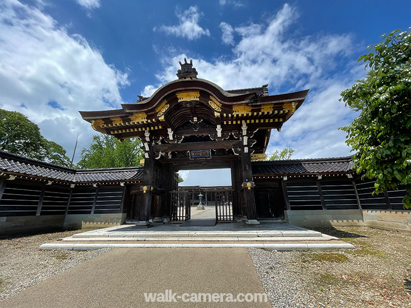
[[[280,95],[268,95],[268,85],[223,90],[198,79],[192,61],[180,65],[178,79],[150,98],[139,97],[117,110],[80,111],[81,116],[96,131],[119,140],[141,139],[142,184],[130,191],[140,196],[137,208],[130,209],[139,212],[136,225],[173,216],[175,171],[209,168],[231,168],[234,219],[259,224],[251,161],[265,157],[271,130],[281,130],[308,90]]]

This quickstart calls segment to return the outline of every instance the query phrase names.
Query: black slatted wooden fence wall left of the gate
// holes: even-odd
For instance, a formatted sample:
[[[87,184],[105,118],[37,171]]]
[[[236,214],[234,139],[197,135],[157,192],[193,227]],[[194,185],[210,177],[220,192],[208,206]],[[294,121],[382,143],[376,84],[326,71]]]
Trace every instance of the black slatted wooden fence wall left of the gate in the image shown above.
[[[0,181],[0,217],[120,213],[124,187]]]

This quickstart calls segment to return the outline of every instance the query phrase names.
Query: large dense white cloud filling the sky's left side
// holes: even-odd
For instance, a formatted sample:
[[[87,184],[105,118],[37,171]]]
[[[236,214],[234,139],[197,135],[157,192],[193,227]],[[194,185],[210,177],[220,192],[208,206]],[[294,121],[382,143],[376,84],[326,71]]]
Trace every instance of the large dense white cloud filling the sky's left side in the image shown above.
[[[0,108],[27,115],[70,157],[77,132],[78,149],[88,146],[94,133],[78,110],[118,108],[123,103],[119,88],[129,85],[128,69],[107,65],[84,37],[69,34],[39,8],[2,2],[0,42]],[[52,108],[50,101],[64,110]]]

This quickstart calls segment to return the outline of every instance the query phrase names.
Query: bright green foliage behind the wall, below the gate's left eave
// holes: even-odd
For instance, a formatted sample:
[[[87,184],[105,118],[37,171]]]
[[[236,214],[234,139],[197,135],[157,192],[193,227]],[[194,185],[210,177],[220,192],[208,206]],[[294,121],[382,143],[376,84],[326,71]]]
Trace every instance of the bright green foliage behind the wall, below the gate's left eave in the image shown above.
[[[120,142],[106,134],[94,135],[90,147],[81,150],[77,167],[92,169],[139,166],[143,155],[140,147],[141,141],[137,138]]]

